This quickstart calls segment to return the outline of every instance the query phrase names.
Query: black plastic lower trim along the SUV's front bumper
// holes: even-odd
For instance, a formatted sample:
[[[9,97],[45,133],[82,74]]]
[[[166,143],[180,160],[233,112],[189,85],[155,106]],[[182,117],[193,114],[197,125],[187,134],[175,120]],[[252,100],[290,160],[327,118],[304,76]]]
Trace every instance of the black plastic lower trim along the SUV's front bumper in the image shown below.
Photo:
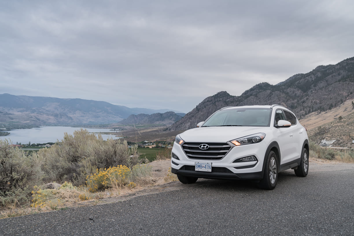
[[[171,172],[174,174],[180,174],[183,176],[198,177],[204,179],[262,179],[263,173],[253,172],[253,173],[218,173],[218,172],[200,172],[200,171],[185,171],[180,169],[171,168]]]

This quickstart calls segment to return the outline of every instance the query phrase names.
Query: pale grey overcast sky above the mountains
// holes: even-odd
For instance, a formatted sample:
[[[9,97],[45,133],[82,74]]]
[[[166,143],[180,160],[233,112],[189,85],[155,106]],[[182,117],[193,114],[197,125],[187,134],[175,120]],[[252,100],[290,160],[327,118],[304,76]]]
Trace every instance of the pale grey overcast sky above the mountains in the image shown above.
[[[354,56],[348,1],[1,1],[0,93],[183,112]]]

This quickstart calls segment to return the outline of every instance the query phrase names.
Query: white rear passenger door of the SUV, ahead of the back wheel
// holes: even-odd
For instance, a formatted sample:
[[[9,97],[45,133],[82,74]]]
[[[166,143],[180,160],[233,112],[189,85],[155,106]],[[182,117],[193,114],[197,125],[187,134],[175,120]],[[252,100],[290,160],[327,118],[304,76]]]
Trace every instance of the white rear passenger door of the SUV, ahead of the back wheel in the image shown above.
[[[285,119],[291,123],[290,131],[292,134],[291,140],[292,140],[292,149],[290,150],[290,157],[289,157],[289,162],[295,161],[296,159],[299,159],[301,156],[301,149],[302,149],[302,133],[303,133],[303,127],[297,123],[295,115],[290,113],[287,110],[283,110]],[[301,130],[302,129],[302,130]]]

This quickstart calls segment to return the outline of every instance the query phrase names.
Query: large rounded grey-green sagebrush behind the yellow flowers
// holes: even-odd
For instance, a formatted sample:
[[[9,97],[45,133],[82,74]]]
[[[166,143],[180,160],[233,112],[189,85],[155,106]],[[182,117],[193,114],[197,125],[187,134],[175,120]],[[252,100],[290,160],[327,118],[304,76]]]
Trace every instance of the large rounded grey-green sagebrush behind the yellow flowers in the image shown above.
[[[90,134],[86,129],[64,134],[58,144],[49,149],[41,149],[38,156],[45,160],[43,170],[45,180],[73,181],[76,186],[84,185],[87,175],[112,166],[132,167],[146,160],[139,158],[137,145],[129,148],[121,140],[103,140],[101,135]]]

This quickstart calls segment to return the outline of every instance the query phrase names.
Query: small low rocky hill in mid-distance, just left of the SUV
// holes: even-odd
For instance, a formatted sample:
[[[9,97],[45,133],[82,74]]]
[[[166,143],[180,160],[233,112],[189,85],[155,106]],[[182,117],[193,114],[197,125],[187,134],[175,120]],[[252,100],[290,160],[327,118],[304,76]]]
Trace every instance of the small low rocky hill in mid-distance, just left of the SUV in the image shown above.
[[[181,113],[178,113],[181,114]],[[184,114],[184,113],[182,113]],[[184,114],[185,115],[185,114]],[[124,119],[118,122],[121,125],[129,125],[129,124],[165,124],[172,125],[178,120],[181,120],[182,116],[177,115],[173,111],[167,111],[165,113],[155,113],[155,114],[138,114],[138,115],[130,115],[127,119]]]

